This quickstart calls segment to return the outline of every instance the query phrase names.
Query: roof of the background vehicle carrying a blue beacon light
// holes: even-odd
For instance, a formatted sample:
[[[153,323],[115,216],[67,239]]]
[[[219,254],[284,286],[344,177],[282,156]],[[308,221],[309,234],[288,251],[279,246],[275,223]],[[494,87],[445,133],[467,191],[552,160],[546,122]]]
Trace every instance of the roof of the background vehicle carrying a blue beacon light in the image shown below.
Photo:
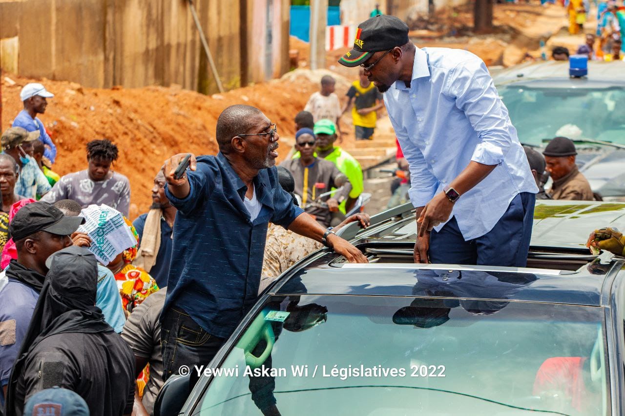
[[[569,62],[545,61],[521,64],[493,76],[497,86],[526,85],[551,88],[607,88],[625,87],[625,62],[589,61],[588,75],[569,77]]]

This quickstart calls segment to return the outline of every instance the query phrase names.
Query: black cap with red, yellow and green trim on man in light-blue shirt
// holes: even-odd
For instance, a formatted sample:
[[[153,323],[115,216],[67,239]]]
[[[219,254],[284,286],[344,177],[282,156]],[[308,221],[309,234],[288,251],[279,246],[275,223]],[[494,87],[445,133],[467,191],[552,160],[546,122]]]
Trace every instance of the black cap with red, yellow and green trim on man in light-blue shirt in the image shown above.
[[[408,39],[408,26],[395,16],[371,17],[358,25],[354,38],[354,49],[339,59],[339,64],[347,67],[359,66],[375,52],[389,51],[402,46]]]

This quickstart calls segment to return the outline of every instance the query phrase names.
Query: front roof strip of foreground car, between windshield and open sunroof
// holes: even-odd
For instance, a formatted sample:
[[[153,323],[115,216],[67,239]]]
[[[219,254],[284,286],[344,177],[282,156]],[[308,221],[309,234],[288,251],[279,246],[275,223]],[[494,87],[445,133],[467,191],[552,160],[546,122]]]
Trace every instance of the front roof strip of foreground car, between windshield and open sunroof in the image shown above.
[[[451,297],[600,306],[605,279],[606,275],[589,271],[522,267],[341,264],[340,267],[305,267],[276,294]],[[429,295],[415,290],[424,282],[426,287],[433,288],[425,292]]]

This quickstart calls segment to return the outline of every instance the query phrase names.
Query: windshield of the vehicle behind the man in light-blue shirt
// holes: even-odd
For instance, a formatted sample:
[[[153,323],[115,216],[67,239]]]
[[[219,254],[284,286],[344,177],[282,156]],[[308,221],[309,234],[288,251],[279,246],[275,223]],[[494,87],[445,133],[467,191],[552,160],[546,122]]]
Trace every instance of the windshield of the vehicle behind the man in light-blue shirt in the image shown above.
[[[565,136],[625,144],[625,89],[498,87],[524,144]]]

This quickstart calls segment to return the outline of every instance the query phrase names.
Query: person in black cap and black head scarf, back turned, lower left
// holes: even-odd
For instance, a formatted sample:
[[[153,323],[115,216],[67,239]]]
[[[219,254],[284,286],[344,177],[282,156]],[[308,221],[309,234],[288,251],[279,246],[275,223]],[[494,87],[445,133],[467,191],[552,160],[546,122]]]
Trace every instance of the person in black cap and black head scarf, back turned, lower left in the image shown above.
[[[11,373],[7,413],[21,416],[32,395],[58,385],[78,393],[91,416],[130,415],[134,355],[95,306],[96,257],[72,245],[46,265],[41,297]]]

